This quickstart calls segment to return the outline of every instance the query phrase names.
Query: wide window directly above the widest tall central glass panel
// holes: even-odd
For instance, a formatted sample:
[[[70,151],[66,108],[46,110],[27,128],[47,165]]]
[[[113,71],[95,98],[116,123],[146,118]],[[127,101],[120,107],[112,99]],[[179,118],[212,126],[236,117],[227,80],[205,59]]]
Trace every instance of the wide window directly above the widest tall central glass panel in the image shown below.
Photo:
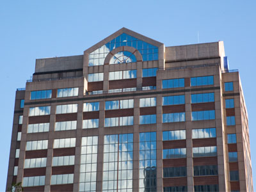
[[[133,116],[105,118],[104,127],[118,127],[118,126],[127,126],[127,125],[133,125]]]

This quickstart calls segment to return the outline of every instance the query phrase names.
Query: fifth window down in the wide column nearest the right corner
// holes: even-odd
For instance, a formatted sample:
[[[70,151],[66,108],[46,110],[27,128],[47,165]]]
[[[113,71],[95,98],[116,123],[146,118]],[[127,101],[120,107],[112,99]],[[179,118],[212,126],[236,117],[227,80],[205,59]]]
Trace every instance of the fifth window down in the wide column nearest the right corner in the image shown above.
[[[193,157],[217,156],[217,147],[193,147]]]

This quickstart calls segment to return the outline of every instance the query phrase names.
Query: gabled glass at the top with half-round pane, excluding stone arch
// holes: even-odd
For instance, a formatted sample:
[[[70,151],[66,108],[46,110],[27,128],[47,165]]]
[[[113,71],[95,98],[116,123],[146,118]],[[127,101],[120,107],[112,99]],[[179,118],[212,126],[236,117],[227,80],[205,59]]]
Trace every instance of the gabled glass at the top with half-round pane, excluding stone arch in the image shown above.
[[[122,33],[105,45],[102,45],[102,47],[99,47],[99,49],[90,52],[89,66],[104,65],[104,60],[109,52],[122,46],[129,46],[137,49],[140,52],[143,61],[158,60],[158,47],[148,44],[131,35],[127,35],[126,33]],[[121,51],[116,53],[115,57],[111,58],[110,63],[124,63],[124,61],[125,63],[135,62],[136,57],[131,52]]]

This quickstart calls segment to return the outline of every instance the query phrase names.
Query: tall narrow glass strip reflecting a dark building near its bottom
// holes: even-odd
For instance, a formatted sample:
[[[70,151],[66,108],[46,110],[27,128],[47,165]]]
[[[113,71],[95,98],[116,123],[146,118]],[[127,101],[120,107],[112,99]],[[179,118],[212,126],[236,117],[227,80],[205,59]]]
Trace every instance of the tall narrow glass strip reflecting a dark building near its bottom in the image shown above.
[[[157,191],[156,132],[140,132],[140,191]]]

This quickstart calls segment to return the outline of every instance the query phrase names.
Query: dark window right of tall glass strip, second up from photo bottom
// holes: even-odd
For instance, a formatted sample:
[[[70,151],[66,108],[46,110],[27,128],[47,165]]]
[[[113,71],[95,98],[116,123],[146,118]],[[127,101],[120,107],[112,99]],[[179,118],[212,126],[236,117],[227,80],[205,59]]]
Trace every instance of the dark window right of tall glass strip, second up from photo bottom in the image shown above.
[[[177,166],[177,167],[166,167],[163,168],[163,177],[186,177],[187,167]]]

